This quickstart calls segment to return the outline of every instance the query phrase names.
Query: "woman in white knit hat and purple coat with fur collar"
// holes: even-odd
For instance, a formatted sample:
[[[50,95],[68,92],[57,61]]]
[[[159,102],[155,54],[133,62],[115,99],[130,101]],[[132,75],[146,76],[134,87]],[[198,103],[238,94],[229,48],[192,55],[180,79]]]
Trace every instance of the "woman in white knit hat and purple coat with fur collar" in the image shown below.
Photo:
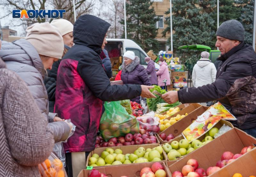
[[[139,57],[133,51],[123,54],[121,80],[124,84],[151,85],[146,69],[139,64]],[[140,97],[131,99],[140,103]]]

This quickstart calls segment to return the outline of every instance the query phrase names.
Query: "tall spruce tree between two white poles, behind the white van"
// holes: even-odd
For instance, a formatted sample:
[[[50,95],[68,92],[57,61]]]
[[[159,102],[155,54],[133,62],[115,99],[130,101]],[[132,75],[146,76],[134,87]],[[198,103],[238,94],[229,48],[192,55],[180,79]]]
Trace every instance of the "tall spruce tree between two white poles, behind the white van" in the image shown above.
[[[150,0],[126,2],[127,39],[134,40],[145,51],[158,52],[159,43],[155,39],[158,29],[155,25],[159,18],[151,6],[152,3]],[[124,24],[124,20],[121,20],[121,24]]]

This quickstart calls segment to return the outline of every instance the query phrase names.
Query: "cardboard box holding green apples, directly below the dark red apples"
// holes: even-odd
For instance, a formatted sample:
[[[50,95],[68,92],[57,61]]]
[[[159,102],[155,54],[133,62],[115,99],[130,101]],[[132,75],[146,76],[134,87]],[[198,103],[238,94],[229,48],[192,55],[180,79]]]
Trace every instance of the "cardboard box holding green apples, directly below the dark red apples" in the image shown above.
[[[123,151],[123,154],[132,154],[136,149],[138,149],[139,147],[144,147],[145,149],[147,148],[154,148],[154,147],[158,147],[159,144],[139,144],[139,145],[131,145],[131,146],[115,146],[115,147],[110,147],[112,149],[121,149]],[[100,148],[96,148],[94,151],[91,151],[90,154],[87,157],[86,160],[86,166],[89,166],[89,158],[92,157],[92,154],[98,154],[99,156],[101,156],[101,153],[103,151],[105,151],[106,148],[109,147],[100,147]],[[164,154],[164,160],[162,160],[161,162],[166,163],[167,162],[167,156],[166,154]],[[147,162],[148,163],[148,162]],[[114,165],[116,166],[116,165]],[[94,168],[98,168],[98,166],[95,166]]]

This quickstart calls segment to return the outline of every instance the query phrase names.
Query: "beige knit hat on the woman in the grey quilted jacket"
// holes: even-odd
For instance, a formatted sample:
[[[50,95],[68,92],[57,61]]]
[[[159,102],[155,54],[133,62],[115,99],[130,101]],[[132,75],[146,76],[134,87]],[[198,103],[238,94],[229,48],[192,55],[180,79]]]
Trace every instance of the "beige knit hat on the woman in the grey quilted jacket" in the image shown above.
[[[25,39],[30,42],[38,54],[61,59],[64,42],[59,30],[49,22],[35,23],[26,29]]]

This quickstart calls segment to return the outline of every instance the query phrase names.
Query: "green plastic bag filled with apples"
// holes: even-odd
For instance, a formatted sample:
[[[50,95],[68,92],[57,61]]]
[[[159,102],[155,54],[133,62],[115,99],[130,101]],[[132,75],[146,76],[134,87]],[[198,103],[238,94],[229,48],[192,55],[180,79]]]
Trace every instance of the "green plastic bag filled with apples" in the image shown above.
[[[101,117],[99,132],[105,141],[127,133],[139,133],[139,122],[127,113],[120,101],[105,102],[104,107],[105,112]]]

